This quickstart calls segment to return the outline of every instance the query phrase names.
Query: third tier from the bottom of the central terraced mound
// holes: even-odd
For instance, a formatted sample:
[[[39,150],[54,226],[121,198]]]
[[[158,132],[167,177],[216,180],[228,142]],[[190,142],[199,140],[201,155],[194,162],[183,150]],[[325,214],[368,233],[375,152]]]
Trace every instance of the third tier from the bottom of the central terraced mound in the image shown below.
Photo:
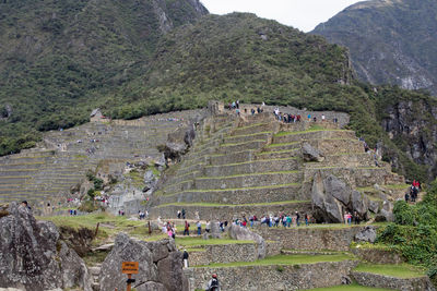
[[[236,189],[259,185],[281,185],[302,181],[302,171],[277,171],[252,174],[236,174],[229,177],[204,177],[196,178],[197,190],[209,189]]]

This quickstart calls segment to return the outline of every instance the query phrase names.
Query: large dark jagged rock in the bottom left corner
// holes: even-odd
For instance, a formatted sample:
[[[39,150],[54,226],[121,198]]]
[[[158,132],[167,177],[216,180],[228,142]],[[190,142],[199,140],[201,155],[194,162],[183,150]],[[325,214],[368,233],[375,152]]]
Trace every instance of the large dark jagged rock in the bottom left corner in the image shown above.
[[[84,262],[60,240],[52,222],[36,221],[29,208],[15,203],[8,213],[0,218],[0,287],[91,291]]]

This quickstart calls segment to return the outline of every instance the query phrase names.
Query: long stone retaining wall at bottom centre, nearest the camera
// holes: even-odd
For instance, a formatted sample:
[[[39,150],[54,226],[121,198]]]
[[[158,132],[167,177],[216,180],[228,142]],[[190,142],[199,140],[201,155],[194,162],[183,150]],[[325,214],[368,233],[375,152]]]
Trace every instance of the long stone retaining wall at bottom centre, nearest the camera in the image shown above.
[[[341,284],[356,266],[354,260],[294,266],[243,266],[187,268],[189,290],[204,290],[212,274],[217,274],[222,291],[298,290]]]

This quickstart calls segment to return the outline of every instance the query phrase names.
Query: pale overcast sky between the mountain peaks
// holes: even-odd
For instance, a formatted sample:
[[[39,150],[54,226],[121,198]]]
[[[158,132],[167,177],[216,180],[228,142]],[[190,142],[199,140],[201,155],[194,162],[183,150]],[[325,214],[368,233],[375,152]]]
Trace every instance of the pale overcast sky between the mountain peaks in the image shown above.
[[[312,31],[316,25],[346,7],[361,2],[357,0],[200,0],[213,14],[231,12],[251,12],[263,19],[277,22],[304,32]]]

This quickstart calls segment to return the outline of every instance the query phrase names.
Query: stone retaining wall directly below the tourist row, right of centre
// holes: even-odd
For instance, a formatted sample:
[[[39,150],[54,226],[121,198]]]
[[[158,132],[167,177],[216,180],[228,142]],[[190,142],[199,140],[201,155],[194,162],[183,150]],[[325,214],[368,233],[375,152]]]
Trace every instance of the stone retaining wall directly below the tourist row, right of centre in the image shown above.
[[[349,251],[350,244],[356,233],[363,227],[351,227],[345,229],[330,228],[268,228],[257,227],[256,232],[264,240],[282,243],[283,248],[288,250],[332,250]]]

